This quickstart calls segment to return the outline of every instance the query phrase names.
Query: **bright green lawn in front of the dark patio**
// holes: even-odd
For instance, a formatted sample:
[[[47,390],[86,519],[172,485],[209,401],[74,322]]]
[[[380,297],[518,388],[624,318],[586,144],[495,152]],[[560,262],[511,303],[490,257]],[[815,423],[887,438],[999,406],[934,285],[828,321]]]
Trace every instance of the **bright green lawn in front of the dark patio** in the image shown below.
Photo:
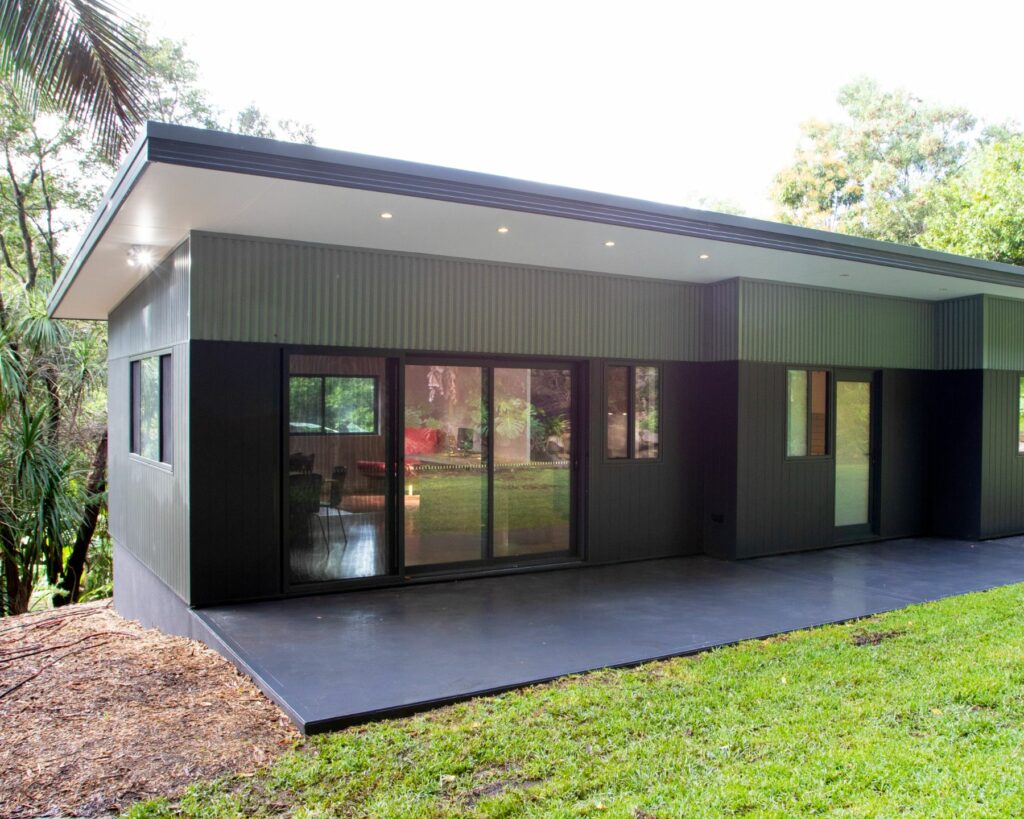
[[[1024,586],[316,737],[165,816],[1020,816]]]

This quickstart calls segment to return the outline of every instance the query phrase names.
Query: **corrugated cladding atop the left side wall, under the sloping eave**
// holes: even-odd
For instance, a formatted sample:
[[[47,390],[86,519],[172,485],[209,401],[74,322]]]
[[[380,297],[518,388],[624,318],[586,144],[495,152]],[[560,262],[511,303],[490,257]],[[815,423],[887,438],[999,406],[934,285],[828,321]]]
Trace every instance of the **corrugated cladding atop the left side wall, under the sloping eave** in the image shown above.
[[[114,308],[110,358],[188,340],[188,242],[183,242]]]

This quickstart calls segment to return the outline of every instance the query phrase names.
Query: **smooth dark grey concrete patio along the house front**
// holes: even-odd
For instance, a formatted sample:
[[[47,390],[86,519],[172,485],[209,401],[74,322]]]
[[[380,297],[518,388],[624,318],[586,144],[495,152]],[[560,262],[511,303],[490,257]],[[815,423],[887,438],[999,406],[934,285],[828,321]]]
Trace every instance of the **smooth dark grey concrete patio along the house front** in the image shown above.
[[[308,732],[1024,581],[1024,537],[670,558],[222,606],[221,650]]]

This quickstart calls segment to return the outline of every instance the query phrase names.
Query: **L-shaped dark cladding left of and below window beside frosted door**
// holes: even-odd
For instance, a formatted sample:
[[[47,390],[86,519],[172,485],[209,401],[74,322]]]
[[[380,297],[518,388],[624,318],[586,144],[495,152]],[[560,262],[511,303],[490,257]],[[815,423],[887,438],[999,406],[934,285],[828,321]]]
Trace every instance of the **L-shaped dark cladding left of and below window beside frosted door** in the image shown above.
[[[735,556],[821,549],[833,542],[830,456],[786,458],[786,368],[739,364]]]

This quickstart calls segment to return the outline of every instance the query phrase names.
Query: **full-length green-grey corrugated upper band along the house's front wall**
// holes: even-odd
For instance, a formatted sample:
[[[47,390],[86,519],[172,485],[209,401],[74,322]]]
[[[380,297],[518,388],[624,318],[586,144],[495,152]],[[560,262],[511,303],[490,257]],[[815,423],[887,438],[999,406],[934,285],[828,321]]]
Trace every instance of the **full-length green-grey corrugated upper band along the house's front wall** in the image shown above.
[[[524,355],[1024,367],[1024,302],[629,278],[195,232],[191,337]]]

